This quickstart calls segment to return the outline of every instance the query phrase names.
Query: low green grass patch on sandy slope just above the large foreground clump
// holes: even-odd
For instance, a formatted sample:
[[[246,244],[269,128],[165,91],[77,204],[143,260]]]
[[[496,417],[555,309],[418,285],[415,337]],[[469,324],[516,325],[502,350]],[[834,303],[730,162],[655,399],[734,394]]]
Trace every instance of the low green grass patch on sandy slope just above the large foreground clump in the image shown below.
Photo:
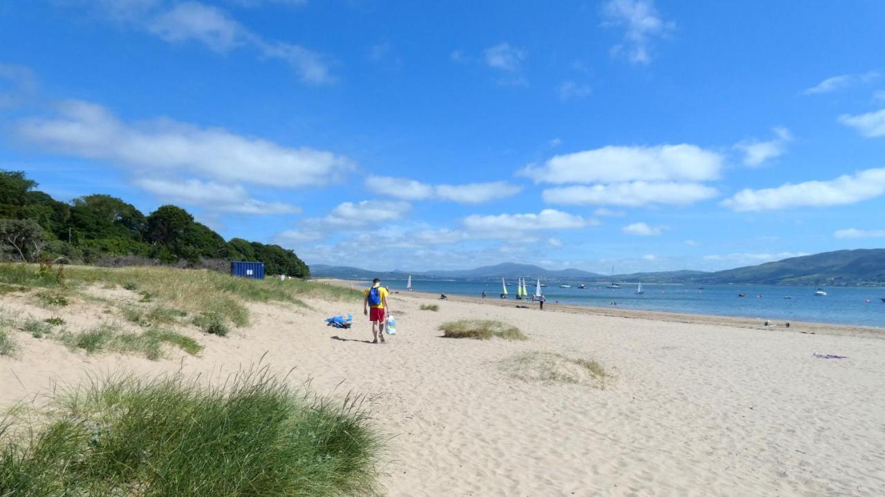
[[[164,356],[164,344],[181,348],[191,356],[196,356],[203,350],[203,346],[196,340],[171,330],[151,328],[142,333],[130,333],[121,332],[117,326],[107,323],[81,333],[66,333],[60,337],[60,340],[68,348],[82,348],[87,354],[107,350],[123,354],[142,354],[151,361]]]

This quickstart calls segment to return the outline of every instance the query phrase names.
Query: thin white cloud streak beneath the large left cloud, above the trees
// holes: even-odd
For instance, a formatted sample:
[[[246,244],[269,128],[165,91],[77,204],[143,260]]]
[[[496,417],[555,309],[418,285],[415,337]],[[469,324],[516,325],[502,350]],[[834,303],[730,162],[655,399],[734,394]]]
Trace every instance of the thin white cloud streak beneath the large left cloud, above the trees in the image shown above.
[[[135,180],[135,185],[165,201],[198,205],[206,210],[239,214],[295,214],[301,209],[279,202],[263,202],[249,197],[241,186],[221,185],[199,180]]]

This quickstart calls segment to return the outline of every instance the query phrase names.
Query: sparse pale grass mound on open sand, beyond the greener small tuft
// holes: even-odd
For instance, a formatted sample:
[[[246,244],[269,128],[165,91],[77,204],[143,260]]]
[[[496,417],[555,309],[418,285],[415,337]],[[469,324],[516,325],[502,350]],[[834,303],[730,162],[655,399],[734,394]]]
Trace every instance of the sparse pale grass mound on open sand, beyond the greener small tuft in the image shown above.
[[[524,381],[544,381],[604,389],[612,376],[602,364],[553,352],[524,352],[504,359],[501,370]]]

